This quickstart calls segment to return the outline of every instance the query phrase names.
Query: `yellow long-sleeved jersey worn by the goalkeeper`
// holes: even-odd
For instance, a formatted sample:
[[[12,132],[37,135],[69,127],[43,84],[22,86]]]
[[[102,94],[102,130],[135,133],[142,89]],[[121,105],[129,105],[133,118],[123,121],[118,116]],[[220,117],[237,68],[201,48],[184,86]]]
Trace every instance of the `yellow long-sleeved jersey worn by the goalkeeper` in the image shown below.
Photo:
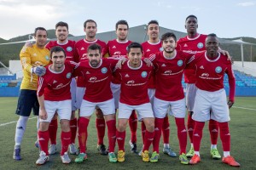
[[[36,44],[31,47],[23,47],[20,51],[20,62],[23,70],[23,79],[20,89],[37,90],[38,76],[32,73],[32,67],[49,64],[49,50],[38,48]]]

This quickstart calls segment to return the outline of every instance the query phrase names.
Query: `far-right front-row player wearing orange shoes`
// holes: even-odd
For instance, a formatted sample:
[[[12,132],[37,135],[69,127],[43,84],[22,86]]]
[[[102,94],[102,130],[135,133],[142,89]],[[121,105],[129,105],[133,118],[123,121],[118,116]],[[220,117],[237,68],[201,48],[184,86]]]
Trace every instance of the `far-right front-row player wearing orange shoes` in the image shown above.
[[[209,34],[206,39],[206,52],[195,54],[190,65],[196,72],[195,86],[198,88],[195,95],[194,114],[195,129],[193,133],[195,154],[189,161],[196,164],[201,161],[200,144],[202,130],[205,122],[213,119],[218,122],[220,139],[222,141],[224,156],[222,161],[230,166],[240,167],[240,164],[230,156],[230,111],[235,101],[236,80],[232,64],[223,54],[218,52],[218,37]],[[230,96],[228,105],[224,90],[224,74],[229,77]],[[210,114],[210,110],[212,110]]]

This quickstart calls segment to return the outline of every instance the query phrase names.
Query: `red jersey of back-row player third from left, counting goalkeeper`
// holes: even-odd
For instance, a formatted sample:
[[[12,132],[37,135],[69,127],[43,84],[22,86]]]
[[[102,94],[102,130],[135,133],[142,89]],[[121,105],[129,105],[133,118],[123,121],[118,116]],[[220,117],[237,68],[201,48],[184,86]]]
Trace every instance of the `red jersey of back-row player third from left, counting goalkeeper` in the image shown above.
[[[87,58],[87,48],[93,43],[97,43],[98,45],[100,45],[102,47],[102,56],[107,54],[106,42],[102,42],[101,40],[98,40],[98,39],[96,39],[95,41],[92,41],[92,42],[90,42],[86,39],[81,39],[78,42],[76,42],[76,44],[75,44],[75,48],[77,49],[77,51],[79,53],[80,62],[84,62],[84,60],[88,59]],[[81,88],[85,88],[83,77],[78,77],[77,86],[81,87]]]

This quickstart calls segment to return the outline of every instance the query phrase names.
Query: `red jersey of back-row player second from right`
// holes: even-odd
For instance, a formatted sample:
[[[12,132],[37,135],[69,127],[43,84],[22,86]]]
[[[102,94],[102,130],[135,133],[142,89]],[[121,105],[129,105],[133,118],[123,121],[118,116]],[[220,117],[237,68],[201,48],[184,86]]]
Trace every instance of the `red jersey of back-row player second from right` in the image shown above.
[[[145,58],[154,58],[156,53],[163,51],[161,41],[156,43],[151,43],[149,41],[143,42],[143,54]],[[150,77],[148,88],[155,88],[155,76],[154,72],[152,73],[152,77]]]

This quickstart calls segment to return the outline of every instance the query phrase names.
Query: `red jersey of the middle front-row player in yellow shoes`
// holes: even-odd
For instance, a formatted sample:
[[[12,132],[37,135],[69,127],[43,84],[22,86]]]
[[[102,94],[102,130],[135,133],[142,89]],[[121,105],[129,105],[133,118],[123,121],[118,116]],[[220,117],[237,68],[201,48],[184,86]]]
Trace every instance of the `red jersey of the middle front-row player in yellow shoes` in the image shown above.
[[[119,101],[126,105],[148,103],[148,80],[152,71],[153,67],[147,66],[143,61],[138,68],[132,68],[129,66],[129,61],[126,61],[121,69],[117,69],[114,76],[121,81]]]

